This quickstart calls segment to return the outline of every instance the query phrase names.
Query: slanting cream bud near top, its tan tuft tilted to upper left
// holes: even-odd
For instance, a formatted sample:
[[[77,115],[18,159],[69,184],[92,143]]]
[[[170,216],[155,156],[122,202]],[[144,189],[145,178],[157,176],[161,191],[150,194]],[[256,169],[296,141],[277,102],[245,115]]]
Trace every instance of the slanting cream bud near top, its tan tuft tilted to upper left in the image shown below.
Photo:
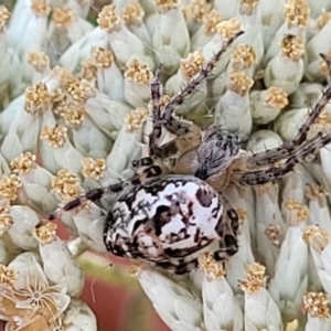
[[[107,32],[111,50],[120,66],[125,66],[128,62],[137,60],[147,63],[153,70],[154,64],[147,46],[122,23],[120,17],[116,13],[114,4],[103,8],[97,23],[102,30]]]

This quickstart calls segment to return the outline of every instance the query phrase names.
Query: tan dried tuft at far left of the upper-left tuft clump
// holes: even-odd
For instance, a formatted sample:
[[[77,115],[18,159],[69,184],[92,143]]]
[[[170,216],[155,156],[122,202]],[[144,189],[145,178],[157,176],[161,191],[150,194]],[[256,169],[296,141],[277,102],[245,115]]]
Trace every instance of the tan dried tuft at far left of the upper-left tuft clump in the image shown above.
[[[49,107],[51,100],[47,86],[44,83],[38,83],[26,87],[24,97],[24,109],[31,115],[34,115],[38,111],[43,113]]]

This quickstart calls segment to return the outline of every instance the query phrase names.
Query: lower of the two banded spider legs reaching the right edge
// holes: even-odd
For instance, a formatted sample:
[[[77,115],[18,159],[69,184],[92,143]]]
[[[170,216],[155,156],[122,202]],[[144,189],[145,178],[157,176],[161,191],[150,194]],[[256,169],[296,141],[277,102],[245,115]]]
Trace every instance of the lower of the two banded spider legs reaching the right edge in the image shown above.
[[[318,150],[331,142],[331,132],[320,132],[316,138],[299,146],[293,153],[280,166],[273,166],[260,171],[252,171],[246,173],[234,173],[241,185],[259,185],[277,180],[286,173],[292,171],[295,167],[305,161],[305,159],[316,153]]]

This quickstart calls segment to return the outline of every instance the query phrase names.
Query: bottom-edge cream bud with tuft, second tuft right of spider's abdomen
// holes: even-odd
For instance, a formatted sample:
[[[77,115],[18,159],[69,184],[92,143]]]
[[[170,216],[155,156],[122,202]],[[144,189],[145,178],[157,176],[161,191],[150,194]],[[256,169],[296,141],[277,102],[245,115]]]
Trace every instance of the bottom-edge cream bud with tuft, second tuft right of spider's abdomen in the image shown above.
[[[245,292],[245,330],[281,330],[279,309],[265,288],[265,267],[252,264],[245,274],[247,279],[239,281]]]

